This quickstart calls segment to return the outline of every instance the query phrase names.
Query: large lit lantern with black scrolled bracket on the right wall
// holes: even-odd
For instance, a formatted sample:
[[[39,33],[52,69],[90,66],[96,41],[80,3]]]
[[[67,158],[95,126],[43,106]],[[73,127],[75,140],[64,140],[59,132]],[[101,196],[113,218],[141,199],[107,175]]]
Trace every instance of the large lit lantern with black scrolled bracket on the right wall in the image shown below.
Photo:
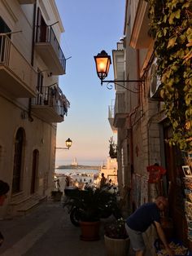
[[[101,79],[101,85],[103,85],[103,82],[107,82],[107,83],[118,83],[118,82],[144,82],[144,80],[141,79],[137,79],[137,80],[105,80],[103,81],[109,72],[109,67],[111,65],[111,56],[107,55],[106,51],[101,51],[100,53],[98,53],[97,56],[94,56],[94,60],[95,60],[95,64],[96,64],[96,70],[98,73],[98,77]],[[121,86],[118,84],[118,86]],[[124,86],[122,86],[124,87]],[[127,89],[126,87],[124,87],[125,89]],[[111,89],[111,88],[108,88]]]

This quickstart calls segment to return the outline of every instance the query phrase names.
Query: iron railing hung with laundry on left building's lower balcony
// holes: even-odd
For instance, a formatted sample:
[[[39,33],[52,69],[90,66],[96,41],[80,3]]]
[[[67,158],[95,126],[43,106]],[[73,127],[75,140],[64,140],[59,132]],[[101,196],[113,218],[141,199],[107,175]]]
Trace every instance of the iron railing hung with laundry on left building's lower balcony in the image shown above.
[[[41,86],[37,90],[37,97],[32,99],[32,104],[51,107],[62,117],[67,116],[70,106],[68,99],[56,83],[51,86]]]

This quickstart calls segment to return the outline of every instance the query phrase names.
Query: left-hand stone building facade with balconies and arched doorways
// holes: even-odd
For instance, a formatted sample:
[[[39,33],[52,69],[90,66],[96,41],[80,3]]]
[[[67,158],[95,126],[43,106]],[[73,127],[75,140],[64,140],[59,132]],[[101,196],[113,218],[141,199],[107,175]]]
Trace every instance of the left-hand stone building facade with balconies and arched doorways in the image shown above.
[[[63,31],[54,0],[0,2],[0,179],[11,188],[1,218],[52,189],[57,123],[69,106],[58,85]]]

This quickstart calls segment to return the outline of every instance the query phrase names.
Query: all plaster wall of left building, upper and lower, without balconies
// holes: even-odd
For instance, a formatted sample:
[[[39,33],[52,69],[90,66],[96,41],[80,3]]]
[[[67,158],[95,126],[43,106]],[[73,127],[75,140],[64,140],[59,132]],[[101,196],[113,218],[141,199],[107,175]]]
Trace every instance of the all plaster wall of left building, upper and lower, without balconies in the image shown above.
[[[63,32],[63,25],[59,13],[55,7],[55,1],[43,0],[37,1],[37,7],[46,19],[47,24],[55,24],[55,34],[59,40],[60,33]],[[32,60],[33,43],[33,4],[20,5],[15,0],[0,1],[0,16],[11,32],[22,30],[19,33],[11,34],[11,41],[20,51],[21,55],[28,60]],[[20,68],[18,66],[18,68]],[[46,70],[46,65],[40,56],[35,52],[34,67]],[[43,72],[44,86],[50,86],[58,82],[59,77],[48,77],[48,71]],[[32,119],[29,118],[32,117]],[[39,152],[37,177],[35,181],[34,196],[50,196],[53,187],[53,174],[55,172],[55,146],[56,129],[55,123],[42,121],[38,116],[32,115],[29,109],[29,99],[13,99],[10,95],[4,94],[0,88],[0,177],[12,188],[14,156],[15,156],[15,135],[17,130],[24,129],[24,154],[21,167],[21,186],[20,192],[13,194],[10,190],[8,198],[0,209],[0,218],[10,214],[10,205],[14,202],[29,198],[31,195],[32,169],[33,169],[33,151]]]

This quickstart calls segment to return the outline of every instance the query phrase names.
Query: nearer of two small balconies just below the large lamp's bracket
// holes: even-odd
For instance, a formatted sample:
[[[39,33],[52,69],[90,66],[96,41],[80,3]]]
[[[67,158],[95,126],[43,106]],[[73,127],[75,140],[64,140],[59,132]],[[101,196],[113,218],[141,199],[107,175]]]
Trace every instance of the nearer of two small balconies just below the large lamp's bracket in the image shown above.
[[[124,93],[116,93],[113,126],[116,128],[124,126],[127,117],[128,113],[125,111]]]

